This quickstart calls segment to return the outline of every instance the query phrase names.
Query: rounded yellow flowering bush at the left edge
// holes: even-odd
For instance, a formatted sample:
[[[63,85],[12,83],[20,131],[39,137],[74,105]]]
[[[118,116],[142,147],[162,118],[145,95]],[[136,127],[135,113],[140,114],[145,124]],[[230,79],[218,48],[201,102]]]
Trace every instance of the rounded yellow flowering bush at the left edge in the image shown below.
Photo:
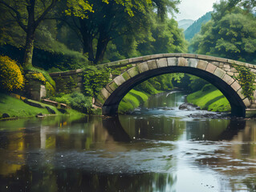
[[[22,90],[24,83],[22,71],[16,62],[7,56],[0,56],[0,90]]]

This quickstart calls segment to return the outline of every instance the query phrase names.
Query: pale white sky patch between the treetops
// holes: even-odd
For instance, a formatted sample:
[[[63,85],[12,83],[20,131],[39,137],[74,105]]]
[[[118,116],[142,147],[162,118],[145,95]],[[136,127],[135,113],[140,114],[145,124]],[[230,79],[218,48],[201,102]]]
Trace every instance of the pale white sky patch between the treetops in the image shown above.
[[[175,14],[176,20],[197,20],[210,10],[213,10],[213,3],[216,1],[217,0],[181,0],[180,5],[178,6],[180,13]]]

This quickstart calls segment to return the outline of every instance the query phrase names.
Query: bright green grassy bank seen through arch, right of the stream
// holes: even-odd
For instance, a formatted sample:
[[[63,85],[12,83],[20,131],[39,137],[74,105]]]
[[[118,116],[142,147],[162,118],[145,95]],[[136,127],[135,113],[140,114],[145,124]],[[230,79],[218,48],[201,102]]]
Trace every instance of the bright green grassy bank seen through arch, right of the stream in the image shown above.
[[[200,106],[201,110],[230,111],[230,102],[212,85],[206,85],[201,90],[189,94],[187,102]]]

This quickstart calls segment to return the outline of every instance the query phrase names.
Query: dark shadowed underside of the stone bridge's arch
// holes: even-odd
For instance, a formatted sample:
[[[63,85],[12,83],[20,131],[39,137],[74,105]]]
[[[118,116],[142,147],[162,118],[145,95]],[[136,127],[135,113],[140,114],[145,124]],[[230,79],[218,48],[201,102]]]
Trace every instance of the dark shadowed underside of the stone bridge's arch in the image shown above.
[[[238,95],[238,93],[227,84],[224,80],[217,77],[215,74],[209,73],[206,70],[201,70],[198,68],[190,67],[190,66],[165,66],[161,68],[156,68],[153,70],[147,70],[143,73],[137,74],[136,76],[129,78],[127,81],[123,82],[120,86],[116,88],[109,95],[109,97],[104,102],[102,107],[104,115],[115,115],[118,113],[118,106],[120,101],[126,94],[128,94],[129,90],[141,82],[148,80],[149,78],[156,77],[161,74],[172,74],[172,73],[185,73],[185,74],[193,74],[199,78],[205,79],[207,82],[216,86],[218,90],[221,91],[222,94],[230,102],[231,106],[231,114],[234,116],[245,117],[246,116],[246,105],[242,101],[242,98]]]

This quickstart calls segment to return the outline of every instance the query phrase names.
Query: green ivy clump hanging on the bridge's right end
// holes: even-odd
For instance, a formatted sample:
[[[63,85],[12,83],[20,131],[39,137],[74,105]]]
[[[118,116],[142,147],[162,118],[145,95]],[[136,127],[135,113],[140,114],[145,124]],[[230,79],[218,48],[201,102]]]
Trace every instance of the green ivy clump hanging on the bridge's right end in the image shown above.
[[[232,64],[232,66],[238,70],[238,76],[233,76],[233,78],[237,79],[242,86],[242,94],[246,96],[246,98],[253,99],[254,90],[256,89],[254,85],[256,75],[246,66],[238,66],[235,64]]]

